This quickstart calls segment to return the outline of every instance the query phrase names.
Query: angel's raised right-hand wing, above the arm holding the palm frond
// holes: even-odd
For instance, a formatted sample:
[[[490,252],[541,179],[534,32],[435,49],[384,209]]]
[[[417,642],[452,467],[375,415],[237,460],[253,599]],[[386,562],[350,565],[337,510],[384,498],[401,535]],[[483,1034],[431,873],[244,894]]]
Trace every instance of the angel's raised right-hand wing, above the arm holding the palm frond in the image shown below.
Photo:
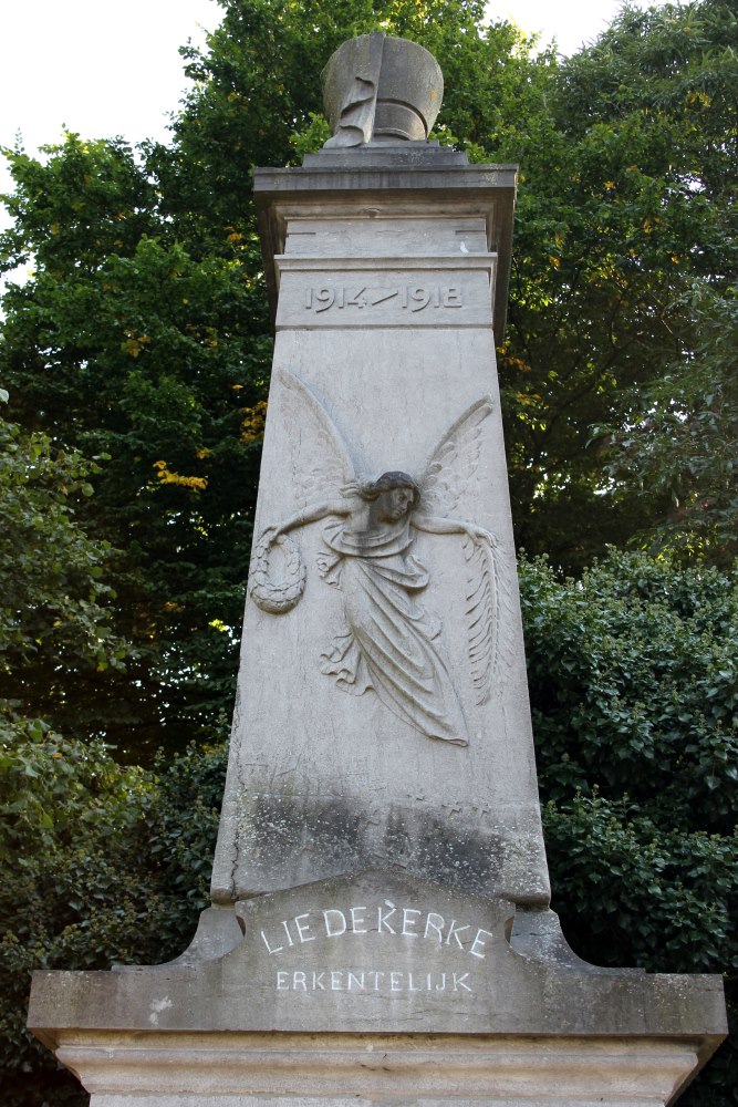
[[[423,509],[450,516],[476,477],[481,446],[481,424],[492,411],[491,396],[482,396],[459,415],[443,436],[420,480]]]

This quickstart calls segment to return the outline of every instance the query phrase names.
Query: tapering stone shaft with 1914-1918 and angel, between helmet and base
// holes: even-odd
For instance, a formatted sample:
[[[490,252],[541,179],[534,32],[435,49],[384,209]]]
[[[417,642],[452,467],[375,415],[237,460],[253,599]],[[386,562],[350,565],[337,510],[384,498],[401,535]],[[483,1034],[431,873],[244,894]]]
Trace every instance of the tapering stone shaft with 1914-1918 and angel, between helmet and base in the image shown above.
[[[212,896],[384,865],[545,903],[493,373],[498,182],[399,203],[366,172],[299,211],[291,178],[258,185],[283,252]],[[387,473],[412,486],[394,521],[401,494],[366,490]]]

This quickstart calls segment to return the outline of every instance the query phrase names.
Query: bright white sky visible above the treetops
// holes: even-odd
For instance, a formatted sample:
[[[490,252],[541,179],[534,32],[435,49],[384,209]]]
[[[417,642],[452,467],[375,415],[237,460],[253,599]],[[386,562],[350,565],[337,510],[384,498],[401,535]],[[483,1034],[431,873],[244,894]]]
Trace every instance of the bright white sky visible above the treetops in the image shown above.
[[[620,0],[492,0],[488,10],[572,53],[619,9]],[[20,132],[35,151],[64,124],[87,138],[166,139],[187,84],[178,46],[201,44],[221,14],[215,0],[0,0],[0,145]],[[4,165],[0,173],[3,190]]]

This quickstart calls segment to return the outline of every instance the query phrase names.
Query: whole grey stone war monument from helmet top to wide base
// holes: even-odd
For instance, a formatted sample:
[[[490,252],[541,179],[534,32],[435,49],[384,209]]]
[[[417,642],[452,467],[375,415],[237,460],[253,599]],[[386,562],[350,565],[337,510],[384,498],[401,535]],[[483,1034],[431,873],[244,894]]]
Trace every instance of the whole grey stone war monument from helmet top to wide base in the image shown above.
[[[435,60],[324,73],[257,169],[277,343],[212,907],[167,965],[37,973],[93,1107],[672,1103],[720,981],[597,969],[550,911],[495,343],[513,166],[427,141]]]

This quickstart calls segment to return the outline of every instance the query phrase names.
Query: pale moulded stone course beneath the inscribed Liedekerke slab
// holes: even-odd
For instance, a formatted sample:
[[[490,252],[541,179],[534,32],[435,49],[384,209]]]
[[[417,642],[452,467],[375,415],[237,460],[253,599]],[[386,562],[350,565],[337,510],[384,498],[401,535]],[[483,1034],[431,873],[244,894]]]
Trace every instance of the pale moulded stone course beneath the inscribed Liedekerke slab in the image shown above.
[[[91,1107],[653,1107],[699,1064],[676,1038],[65,1032]]]

